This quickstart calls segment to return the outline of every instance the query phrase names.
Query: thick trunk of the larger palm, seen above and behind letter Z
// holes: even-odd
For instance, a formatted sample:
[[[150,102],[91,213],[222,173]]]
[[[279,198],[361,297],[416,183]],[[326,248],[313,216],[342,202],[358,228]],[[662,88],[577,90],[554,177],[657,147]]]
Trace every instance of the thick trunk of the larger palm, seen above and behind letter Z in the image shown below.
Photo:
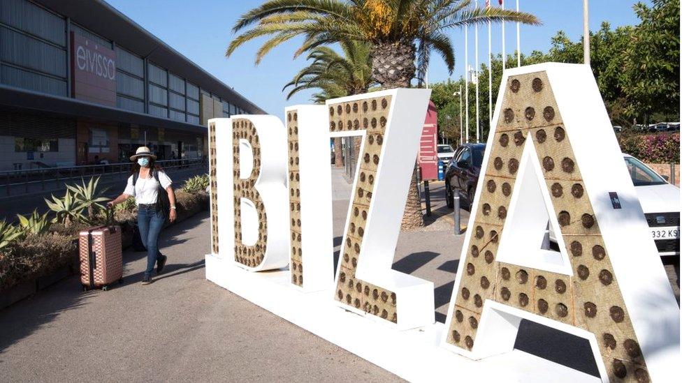
[[[416,72],[416,66],[414,66],[415,52],[416,47],[411,41],[374,45],[371,54],[372,78],[384,89],[409,88],[409,82]],[[412,171],[412,179],[409,182],[407,203],[400,228],[402,230],[414,229],[423,225],[424,217],[421,213],[421,200],[417,192],[415,166]]]

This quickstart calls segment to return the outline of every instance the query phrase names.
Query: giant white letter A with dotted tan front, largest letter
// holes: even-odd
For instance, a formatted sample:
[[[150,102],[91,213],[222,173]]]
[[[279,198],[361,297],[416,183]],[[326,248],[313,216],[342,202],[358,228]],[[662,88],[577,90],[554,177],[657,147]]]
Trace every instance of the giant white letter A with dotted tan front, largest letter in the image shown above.
[[[494,121],[444,347],[509,352],[525,318],[586,338],[604,381],[671,380],[679,307],[590,68],[505,70]]]

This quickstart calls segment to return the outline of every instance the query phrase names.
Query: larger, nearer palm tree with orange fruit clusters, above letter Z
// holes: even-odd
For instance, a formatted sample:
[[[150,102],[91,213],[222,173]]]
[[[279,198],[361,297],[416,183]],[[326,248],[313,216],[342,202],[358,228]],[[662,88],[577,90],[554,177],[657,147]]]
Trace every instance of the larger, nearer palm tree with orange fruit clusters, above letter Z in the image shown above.
[[[409,87],[415,76],[423,78],[432,51],[452,73],[455,57],[447,30],[488,21],[539,24],[529,13],[473,8],[471,0],[268,0],[235,23],[234,32],[247,30],[226,55],[261,36],[270,38],[256,52],[256,65],[273,47],[298,36],[304,40],[295,57],[321,45],[358,41],[370,45],[373,80],[385,89]],[[413,173],[403,228],[423,225]]]

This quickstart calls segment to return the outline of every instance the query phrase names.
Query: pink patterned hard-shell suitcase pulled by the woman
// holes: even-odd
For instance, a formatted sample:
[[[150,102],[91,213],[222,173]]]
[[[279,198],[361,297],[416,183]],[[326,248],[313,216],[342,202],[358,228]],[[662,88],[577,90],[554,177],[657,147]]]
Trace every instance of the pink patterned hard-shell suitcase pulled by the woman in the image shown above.
[[[80,232],[78,250],[83,291],[96,287],[106,291],[111,283],[123,283],[123,252],[119,226],[90,227]]]

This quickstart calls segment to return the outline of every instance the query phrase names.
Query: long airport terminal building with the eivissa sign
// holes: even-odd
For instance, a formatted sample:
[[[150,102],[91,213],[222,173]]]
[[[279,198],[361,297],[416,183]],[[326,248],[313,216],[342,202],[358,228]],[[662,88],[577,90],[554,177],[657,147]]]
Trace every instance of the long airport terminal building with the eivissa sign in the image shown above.
[[[254,103],[102,0],[0,1],[0,171],[201,158]]]

